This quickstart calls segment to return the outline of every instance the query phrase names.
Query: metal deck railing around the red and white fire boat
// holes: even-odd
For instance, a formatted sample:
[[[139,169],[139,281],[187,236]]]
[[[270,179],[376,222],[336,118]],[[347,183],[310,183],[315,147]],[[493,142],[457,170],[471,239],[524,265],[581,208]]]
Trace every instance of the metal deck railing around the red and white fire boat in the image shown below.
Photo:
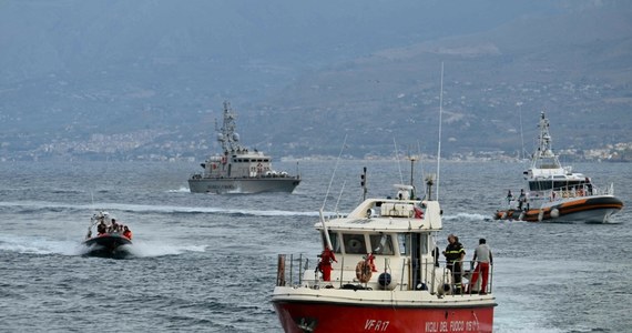
[[[289,259],[289,260],[288,260]],[[345,265],[342,258],[332,271],[330,281],[323,281],[318,272],[317,260],[310,262],[304,254],[278,254],[277,258],[277,286],[308,287],[308,289],[353,289],[353,290],[415,290],[426,291],[430,294],[442,296],[446,294],[473,294],[481,289],[482,275],[478,273],[476,285],[470,286],[472,275],[479,269],[477,262],[465,261],[461,263],[461,285],[458,287],[453,282],[453,274],[448,269],[447,262],[434,260],[410,260],[404,258],[400,264],[391,265],[389,259],[384,259],[378,272],[371,272],[369,279],[358,279],[356,265]],[[359,263],[358,263],[359,264]],[[467,270],[466,268],[469,268]],[[388,273],[385,275],[383,273]],[[420,276],[417,276],[420,273]],[[489,266],[486,291],[492,291],[493,266]]]

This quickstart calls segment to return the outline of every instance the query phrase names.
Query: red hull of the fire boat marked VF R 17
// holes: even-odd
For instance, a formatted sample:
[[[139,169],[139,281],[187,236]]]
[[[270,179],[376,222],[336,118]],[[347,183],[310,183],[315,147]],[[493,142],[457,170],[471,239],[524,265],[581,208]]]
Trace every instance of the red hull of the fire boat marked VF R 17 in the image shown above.
[[[275,302],[286,333],[492,332],[493,306],[394,307]]]

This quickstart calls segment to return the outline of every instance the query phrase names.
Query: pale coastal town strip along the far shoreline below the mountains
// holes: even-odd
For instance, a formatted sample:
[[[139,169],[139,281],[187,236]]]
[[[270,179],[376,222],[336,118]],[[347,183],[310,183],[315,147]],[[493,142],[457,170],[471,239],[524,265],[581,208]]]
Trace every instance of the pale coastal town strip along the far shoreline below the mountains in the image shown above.
[[[0,147],[0,162],[41,161],[41,160],[109,160],[109,161],[188,161],[204,160],[210,153],[220,151],[216,142],[182,141],[171,138],[173,133],[162,131],[141,131],[129,134],[92,134],[88,141],[60,139],[43,143],[30,150],[10,150],[10,144]],[[565,161],[585,162],[632,162],[632,142],[621,142],[589,149],[559,149],[560,158]],[[353,154],[353,153],[350,153]],[[360,159],[388,159],[393,151],[374,151]],[[281,153],[279,159],[329,159],[329,155],[296,155]],[[432,154],[426,158],[432,159]],[[526,152],[516,151],[472,151],[469,153],[447,153],[442,157],[453,161],[514,161],[528,159]]]

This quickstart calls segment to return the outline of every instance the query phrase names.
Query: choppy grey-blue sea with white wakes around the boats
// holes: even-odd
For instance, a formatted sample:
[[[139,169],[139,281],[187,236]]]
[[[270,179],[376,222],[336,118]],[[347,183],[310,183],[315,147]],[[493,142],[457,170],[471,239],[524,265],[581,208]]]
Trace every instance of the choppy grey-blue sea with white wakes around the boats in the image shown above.
[[[0,331],[282,332],[269,303],[277,254],[316,258],[318,209],[354,208],[364,167],[369,195],[410,175],[396,161],[275,167],[298,169],[294,193],[193,194],[196,163],[0,163]],[[468,259],[481,236],[495,253],[495,332],[630,332],[631,164],[574,165],[628,204],[610,224],[492,220],[524,167],[446,161],[439,175],[445,235]],[[419,185],[436,163],[415,171]],[[133,258],[82,256],[96,210],[132,229]]]

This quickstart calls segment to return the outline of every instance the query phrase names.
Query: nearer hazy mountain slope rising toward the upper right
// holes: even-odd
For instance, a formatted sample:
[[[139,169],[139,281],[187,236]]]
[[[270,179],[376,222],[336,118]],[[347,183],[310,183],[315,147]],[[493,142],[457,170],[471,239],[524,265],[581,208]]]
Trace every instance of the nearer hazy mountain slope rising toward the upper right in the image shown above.
[[[323,127],[294,133],[274,121],[266,127],[298,135],[305,149],[343,133],[357,145],[381,143],[383,151],[398,137],[429,140],[434,149],[444,62],[448,151],[519,152],[521,133],[530,151],[541,111],[557,148],[632,142],[631,18],[620,8],[520,18],[481,33],[385,49],[306,77],[271,102],[286,105],[277,115],[300,114]]]

